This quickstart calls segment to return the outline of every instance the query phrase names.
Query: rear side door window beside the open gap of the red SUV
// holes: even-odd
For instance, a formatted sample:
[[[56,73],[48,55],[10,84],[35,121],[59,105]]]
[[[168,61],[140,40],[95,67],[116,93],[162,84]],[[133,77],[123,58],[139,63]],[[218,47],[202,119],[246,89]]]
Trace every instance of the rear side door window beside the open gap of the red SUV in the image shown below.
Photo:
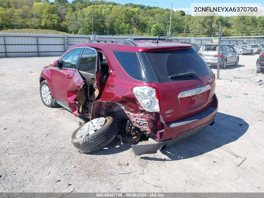
[[[84,48],[79,64],[79,71],[95,74],[97,53],[94,49]]]

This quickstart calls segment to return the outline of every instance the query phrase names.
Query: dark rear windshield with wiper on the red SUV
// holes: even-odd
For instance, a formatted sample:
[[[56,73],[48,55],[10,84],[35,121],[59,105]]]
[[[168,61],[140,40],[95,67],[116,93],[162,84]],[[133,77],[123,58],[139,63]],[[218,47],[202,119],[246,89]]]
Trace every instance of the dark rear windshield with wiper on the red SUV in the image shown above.
[[[211,73],[201,56],[192,48],[145,52],[159,83],[197,79]],[[194,76],[169,79],[169,76],[195,72]]]

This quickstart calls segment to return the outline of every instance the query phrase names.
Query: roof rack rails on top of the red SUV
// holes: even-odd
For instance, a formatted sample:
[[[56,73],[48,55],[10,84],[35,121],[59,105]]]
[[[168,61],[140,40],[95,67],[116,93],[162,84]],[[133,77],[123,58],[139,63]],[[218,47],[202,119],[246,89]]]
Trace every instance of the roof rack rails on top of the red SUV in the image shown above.
[[[135,41],[157,41],[157,38],[132,38],[132,39],[121,39],[121,38],[100,38],[92,39],[89,43],[117,43],[122,45],[138,46]],[[159,38],[159,41],[180,43],[177,38]]]

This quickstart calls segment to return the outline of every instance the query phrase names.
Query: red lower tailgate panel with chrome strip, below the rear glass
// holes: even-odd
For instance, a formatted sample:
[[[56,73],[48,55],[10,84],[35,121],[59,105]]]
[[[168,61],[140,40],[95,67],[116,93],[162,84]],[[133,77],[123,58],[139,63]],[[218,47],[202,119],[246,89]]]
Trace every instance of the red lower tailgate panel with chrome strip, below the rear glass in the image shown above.
[[[166,123],[201,113],[215,93],[214,74],[196,80],[173,83],[150,83],[159,93],[160,114]]]

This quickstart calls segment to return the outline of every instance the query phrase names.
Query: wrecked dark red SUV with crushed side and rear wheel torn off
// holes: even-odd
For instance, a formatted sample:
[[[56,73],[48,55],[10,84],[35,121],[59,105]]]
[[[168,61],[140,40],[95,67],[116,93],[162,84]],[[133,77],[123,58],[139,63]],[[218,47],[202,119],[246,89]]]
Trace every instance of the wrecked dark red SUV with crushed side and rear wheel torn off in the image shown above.
[[[69,48],[40,75],[40,96],[90,121],[71,142],[80,152],[116,136],[136,155],[163,150],[214,124],[215,75],[192,48],[173,39],[95,39]]]

